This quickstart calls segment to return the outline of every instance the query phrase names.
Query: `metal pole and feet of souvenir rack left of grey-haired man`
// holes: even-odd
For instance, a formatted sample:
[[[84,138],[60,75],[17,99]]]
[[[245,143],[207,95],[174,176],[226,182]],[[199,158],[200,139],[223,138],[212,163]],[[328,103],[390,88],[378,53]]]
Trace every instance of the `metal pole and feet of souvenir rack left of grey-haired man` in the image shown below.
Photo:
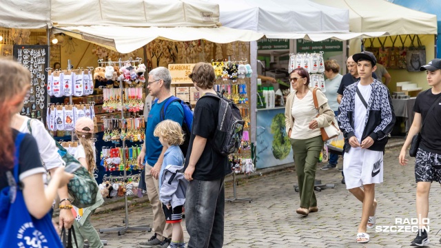
[[[136,61],[131,61],[131,62],[136,62]],[[102,62],[99,61],[99,63],[113,63],[113,62]],[[119,59],[119,68],[121,68],[121,59]],[[119,82],[119,87],[121,89],[121,101],[123,101],[123,81],[121,80]],[[121,110],[121,119],[124,118],[124,109]],[[125,165],[125,141],[123,141],[123,163]],[[124,177],[127,177],[127,172],[124,169]],[[125,220],[123,221],[123,223],[125,225],[121,226],[121,227],[112,227],[112,228],[103,228],[103,229],[99,229],[99,233],[103,234],[105,232],[109,232],[109,231],[118,231],[118,235],[123,235],[125,233],[125,231],[152,231],[152,228],[150,228],[150,225],[139,225],[139,226],[135,226],[135,227],[130,227],[129,226],[129,210],[128,210],[128,205],[127,205],[127,194],[124,194],[124,202],[125,202]]]

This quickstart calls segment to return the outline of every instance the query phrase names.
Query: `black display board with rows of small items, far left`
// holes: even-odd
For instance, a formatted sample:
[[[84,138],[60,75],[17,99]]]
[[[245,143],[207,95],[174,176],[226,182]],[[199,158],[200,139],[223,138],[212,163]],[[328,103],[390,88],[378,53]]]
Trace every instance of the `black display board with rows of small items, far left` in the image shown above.
[[[20,114],[45,123],[48,106],[48,45],[14,45],[15,61],[30,71],[30,96]]]

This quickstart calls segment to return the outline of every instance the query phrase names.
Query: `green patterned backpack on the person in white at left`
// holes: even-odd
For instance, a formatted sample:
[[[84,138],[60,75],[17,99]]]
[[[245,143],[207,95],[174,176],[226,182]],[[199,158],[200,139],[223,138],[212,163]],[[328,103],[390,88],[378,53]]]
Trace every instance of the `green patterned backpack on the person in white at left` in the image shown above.
[[[32,134],[32,128],[30,127],[31,121],[32,119],[28,120],[28,129]],[[70,155],[69,152],[57,141],[55,141],[55,144],[58,147],[58,153],[65,162],[65,166],[70,165],[70,163],[79,163],[79,161],[77,161],[74,156]],[[73,198],[71,203],[78,208],[94,205],[98,191],[99,188],[95,178],[90,175],[88,170],[83,166],[74,172],[74,178],[68,183],[68,192]]]

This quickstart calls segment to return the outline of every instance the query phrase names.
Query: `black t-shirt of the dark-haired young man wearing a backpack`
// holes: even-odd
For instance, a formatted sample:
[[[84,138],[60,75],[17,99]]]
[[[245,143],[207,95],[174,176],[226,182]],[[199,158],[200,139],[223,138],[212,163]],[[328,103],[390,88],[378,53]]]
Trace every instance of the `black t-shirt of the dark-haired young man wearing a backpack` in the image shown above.
[[[192,154],[193,141],[197,136],[207,138],[204,150],[196,163],[192,177],[196,180],[217,180],[232,173],[228,165],[228,157],[216,152],[212,139],[218,123],[219,100],[212,97],[202,97],[194,107],[192,135],[190,136],[185,169]]]

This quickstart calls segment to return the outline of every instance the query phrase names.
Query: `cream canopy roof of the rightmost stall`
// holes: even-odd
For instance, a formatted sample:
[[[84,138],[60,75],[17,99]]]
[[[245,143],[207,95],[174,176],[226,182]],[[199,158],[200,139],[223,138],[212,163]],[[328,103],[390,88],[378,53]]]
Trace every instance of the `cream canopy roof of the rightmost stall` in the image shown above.
[[[398,34],[437,34],[436,16],[384,0],[311,0],[349,10],[351,32],[385,31]]]

